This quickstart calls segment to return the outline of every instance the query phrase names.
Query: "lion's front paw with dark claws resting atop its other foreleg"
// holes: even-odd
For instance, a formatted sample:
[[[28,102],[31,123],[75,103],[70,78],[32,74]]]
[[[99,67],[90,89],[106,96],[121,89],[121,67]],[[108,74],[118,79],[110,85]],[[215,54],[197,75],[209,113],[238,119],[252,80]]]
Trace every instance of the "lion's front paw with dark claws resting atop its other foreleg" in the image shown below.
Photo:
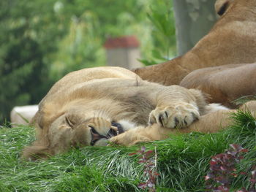
[[[149,124],[159,124],[165,128],[185,128],[199,118],[197,107],[192,104],[157,107],[149,114]]]

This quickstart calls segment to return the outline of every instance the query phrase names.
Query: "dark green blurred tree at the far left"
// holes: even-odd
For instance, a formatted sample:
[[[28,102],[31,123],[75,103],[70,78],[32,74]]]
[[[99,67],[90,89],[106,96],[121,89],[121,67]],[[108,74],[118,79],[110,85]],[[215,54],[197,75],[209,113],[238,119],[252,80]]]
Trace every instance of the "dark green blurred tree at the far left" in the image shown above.
[[[0,2],[0,120],[15,105],[38,102],[49,87],[48,54],[61,34],[49,23],[57,19],[48,10],[53,3]]]

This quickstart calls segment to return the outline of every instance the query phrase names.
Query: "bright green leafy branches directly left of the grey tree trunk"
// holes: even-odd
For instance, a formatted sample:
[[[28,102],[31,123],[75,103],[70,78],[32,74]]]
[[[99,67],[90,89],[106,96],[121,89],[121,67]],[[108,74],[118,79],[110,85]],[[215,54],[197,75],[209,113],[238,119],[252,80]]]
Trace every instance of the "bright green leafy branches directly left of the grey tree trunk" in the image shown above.
[[[153,26],[151,34],[154,47],[151,50],[151,58],[140,61],[145,65],[169,61],[176,55],[173,1],[154,1],[147,16]]]

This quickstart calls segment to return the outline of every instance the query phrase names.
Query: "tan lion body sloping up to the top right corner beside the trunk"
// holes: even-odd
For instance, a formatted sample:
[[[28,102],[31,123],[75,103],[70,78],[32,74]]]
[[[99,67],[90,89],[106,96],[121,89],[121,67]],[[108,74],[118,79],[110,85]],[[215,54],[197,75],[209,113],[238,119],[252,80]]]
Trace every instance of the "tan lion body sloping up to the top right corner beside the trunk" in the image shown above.
[[[164,64],[135,69],[143,80],[178,85],[195,69],[256,61],[256,1],[218,0],[217,12],[227,4],[211,31],[188,53]]]

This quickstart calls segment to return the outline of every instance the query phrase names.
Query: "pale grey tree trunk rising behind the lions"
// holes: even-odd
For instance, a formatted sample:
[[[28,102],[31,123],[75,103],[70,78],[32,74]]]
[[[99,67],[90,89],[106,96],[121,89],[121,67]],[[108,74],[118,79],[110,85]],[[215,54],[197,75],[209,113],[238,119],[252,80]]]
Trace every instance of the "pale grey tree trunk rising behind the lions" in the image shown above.
[[[173,0],[178,55],[187,53],[217,20],[213,0]]]

